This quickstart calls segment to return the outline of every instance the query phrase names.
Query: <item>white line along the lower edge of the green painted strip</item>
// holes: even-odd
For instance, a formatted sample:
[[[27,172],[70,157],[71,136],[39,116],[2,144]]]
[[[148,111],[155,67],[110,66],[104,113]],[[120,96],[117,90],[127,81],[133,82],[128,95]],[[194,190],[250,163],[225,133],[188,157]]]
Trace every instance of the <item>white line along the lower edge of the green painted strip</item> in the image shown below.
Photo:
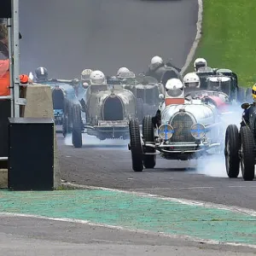
[[[256,248],[256,245],[253,245],[253,244],[236,243],[236,242],[224,242],[224,241],[222,242],[222,241],[217,241],[217,240],[199,239],[199,238],[195,238],[193,236],[171,235],[171,234],[166,234],[164,232],[154,232],[154,231],[148,231],[148,230],[129,229],[129,228],[118,226],[118,225],[92,223],[88,220],[77,219],[77,218],[49,218],[49,217],[43,217],[43,216],[38,216],[38,215],[32,215],[32,214],[9,213],[9,212],[0,212],[0,216],[1,217],[11,217],[11,218],[17,218],[17,217],[38,218],[38,219],[69,222],[69,223],[76,223],[76,224],[88,224],[90,226],[96,226],[96,227],[107,228],[107,229],[112,229],[112,230],[136,232],[136,233],[140,233],[140,234],[143,234],[143,235],[151,235],[151,236],[170,237],[172,239],[184,239],[184,240],[195,241],[195,242],[200,242],[200,243],[207,243],[207,244],[212,244],[212,245],[226,245],[226,246],[234,246],[234,247]]]

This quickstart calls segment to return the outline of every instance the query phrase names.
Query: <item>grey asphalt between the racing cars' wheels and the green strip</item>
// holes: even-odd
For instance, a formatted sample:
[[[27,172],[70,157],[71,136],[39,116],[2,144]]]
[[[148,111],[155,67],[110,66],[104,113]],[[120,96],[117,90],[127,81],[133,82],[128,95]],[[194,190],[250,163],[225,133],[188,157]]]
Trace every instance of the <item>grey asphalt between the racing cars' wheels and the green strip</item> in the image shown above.
[[[223,159],[208,158],[198,162],[199,168],[195,169],[195,161],[163,160],[158,156],[154,169],[133,172],[127,141],[100,143],[93,137],[84,136],[84,147],[73,148],[71,138],[64,139],[61,134],[57,137],[61,151],[61,176],[68,182],[256,210],[256,183],[244,182],[241,177],[228,178]],[[201,172],[198,173],[199,169]],[[215,172],[219,177],[203,175],[209,172]]]

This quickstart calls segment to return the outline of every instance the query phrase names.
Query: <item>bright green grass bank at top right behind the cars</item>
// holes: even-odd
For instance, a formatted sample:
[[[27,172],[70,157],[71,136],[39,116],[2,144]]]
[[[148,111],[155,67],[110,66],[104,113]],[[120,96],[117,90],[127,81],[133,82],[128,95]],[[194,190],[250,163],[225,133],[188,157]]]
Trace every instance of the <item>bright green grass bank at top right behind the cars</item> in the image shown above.
[[[204,57],[210,67],[230,68],[241,86],[255,84],[256,1],[203,0],[203,5],[202,37],[195,58]]]

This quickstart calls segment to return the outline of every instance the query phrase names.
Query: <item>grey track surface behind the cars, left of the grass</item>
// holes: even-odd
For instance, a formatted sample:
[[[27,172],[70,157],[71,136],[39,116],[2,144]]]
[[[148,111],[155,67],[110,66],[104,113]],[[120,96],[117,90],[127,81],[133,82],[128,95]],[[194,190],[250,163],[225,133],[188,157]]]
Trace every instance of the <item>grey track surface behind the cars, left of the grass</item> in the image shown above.
[[[21,71],[44,66],[51,78],[84,68],[114,74],[147,69],[153,55],[184,64],[195,38],[197,0],[22,0]]]

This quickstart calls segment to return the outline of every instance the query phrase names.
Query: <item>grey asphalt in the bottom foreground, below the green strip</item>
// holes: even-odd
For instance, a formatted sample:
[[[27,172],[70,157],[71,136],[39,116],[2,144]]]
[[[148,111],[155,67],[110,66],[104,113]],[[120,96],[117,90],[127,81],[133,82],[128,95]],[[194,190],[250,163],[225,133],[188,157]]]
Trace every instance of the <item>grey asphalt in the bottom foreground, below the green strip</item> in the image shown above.
[[[255,249],[224,245],[205,245],[160,235],[113,230],[87,224],[0,214],[0,247],[6,256],[125,256],[254,255]]]

